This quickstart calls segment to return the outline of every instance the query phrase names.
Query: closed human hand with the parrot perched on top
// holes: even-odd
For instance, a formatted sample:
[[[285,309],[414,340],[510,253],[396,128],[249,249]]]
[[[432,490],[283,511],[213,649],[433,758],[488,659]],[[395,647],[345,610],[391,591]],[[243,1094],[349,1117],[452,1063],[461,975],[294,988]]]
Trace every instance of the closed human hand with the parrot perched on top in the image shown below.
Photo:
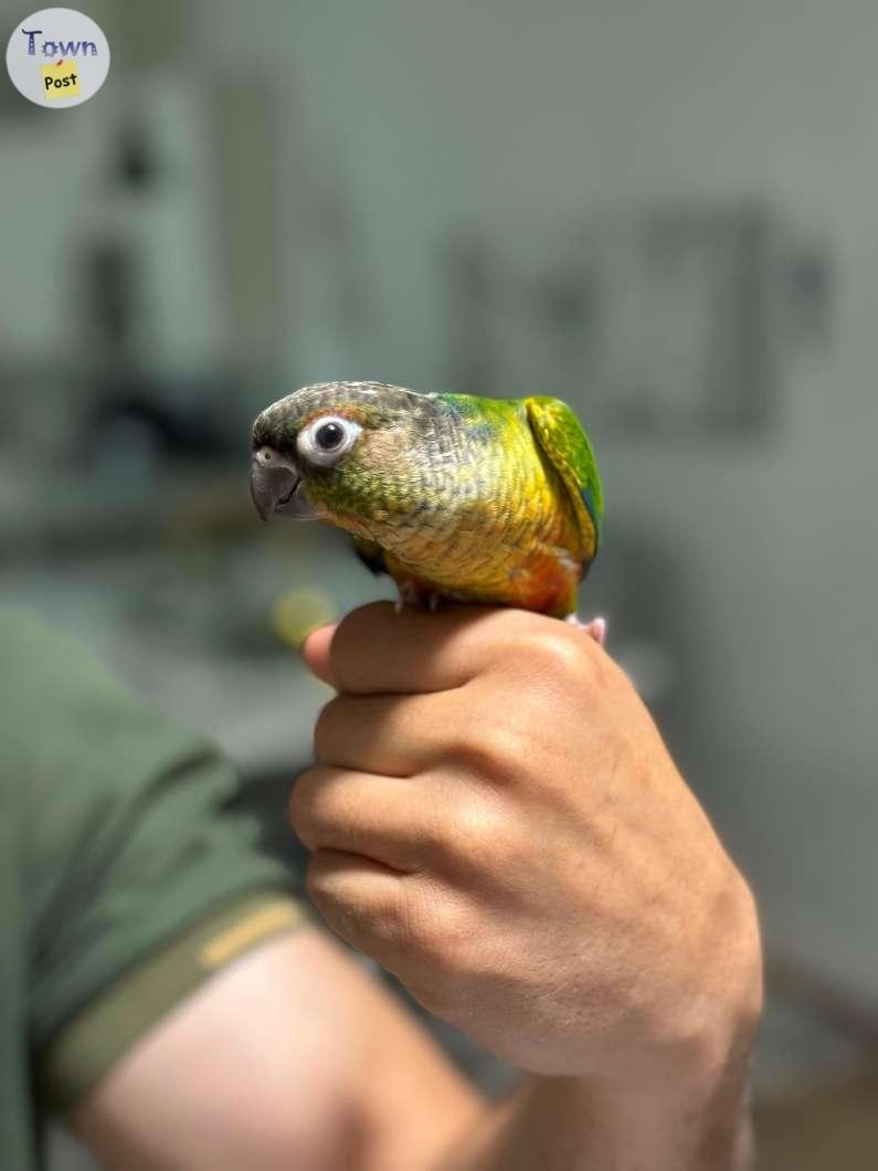
[[[291,819],[342,938],[535,1073],[685,1095],[746,1063],[749,890],[587,632],[378,603],[304,657],[339,694]]]

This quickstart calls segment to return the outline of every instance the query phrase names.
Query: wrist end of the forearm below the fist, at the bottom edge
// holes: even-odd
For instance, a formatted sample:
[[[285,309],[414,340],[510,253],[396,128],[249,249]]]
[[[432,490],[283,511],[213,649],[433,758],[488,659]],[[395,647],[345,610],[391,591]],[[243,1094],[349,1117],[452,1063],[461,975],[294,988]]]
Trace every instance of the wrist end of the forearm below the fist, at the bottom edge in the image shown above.
[[[746,1171],[750,1150],[742,1068],[679,1096],[531,1077],[434,1171]]]

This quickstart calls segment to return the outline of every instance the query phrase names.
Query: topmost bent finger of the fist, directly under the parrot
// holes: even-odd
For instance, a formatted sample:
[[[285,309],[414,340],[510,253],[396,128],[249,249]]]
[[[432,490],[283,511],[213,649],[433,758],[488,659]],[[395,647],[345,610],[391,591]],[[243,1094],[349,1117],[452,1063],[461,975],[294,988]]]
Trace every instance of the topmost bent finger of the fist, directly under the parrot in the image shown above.
[[[349,694],[451,691],[486,666],[501,643],[536,622],[522,610],[445,605],[435,611],[373,602],[338,624],[329,648],[332,682]]]

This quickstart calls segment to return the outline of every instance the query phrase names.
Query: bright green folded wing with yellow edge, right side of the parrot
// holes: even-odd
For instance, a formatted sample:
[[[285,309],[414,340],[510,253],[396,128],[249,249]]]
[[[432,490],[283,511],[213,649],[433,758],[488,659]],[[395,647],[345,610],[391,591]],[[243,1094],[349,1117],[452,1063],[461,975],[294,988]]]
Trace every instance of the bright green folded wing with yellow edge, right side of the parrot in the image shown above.
[[[524,408],[530,430],[570,494],[588,562],[597,553],[604,511],[601,477],[589,437],[560,398],[526,398]]]

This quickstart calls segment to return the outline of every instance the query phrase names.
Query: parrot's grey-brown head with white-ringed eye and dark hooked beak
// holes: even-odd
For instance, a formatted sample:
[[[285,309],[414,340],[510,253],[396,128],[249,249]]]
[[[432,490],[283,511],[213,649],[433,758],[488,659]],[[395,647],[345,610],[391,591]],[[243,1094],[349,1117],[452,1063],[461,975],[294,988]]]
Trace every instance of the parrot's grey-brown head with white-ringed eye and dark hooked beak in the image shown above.
[[[403,502],[431,396],[371,382],[303,386],[253,425],[251,491],[273,513],[373,532]]]

